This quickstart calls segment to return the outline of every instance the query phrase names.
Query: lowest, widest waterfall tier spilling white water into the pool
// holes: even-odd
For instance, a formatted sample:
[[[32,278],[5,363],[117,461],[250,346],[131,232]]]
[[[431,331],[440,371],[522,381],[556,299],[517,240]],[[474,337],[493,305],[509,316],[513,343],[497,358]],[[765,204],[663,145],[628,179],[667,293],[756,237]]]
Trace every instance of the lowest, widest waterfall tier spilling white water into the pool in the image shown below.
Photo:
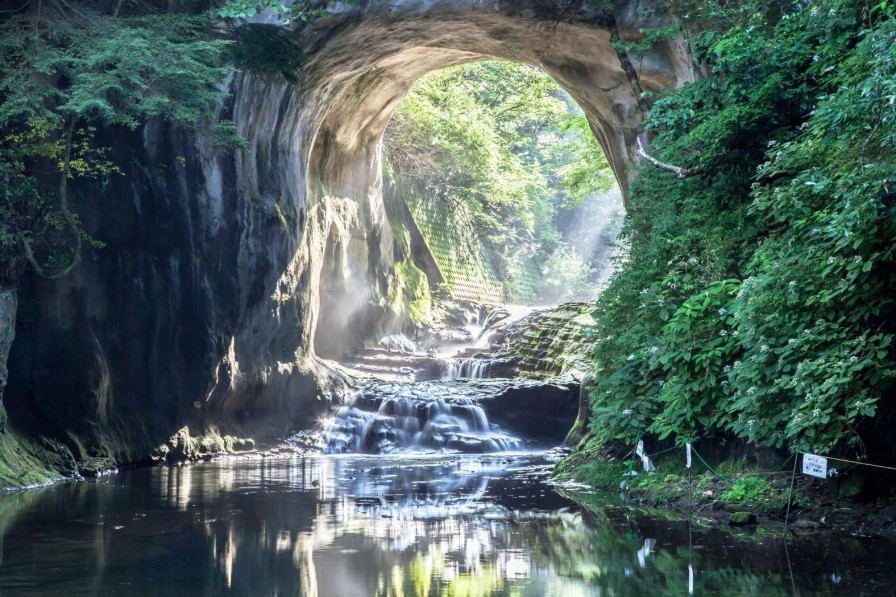
[[[371,383],[325,424],[330,453],[519,450],[523,442],[491,424],[475,396],[443,384]]]

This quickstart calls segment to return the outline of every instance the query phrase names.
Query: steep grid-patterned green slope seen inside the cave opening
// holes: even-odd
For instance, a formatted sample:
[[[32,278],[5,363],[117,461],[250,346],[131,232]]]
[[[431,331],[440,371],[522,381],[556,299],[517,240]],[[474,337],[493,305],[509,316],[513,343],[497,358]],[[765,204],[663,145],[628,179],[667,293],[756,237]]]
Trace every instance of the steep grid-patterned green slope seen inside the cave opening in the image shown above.
[[[485,303],[504,301],[495,273],[467,207],[459,202],[405,193],[405,202],[423,235],[451,296]]]

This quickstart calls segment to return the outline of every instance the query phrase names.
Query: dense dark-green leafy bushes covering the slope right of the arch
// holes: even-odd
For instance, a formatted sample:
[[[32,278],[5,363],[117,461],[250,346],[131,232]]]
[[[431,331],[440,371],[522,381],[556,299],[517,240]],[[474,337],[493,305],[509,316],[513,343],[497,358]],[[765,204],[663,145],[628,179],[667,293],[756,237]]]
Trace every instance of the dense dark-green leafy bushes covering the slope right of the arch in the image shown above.
[[[860,445],[896,379],[893,9],[686,4],[712,74],[648,126],[653,152],[704,172],[646,166],[632,186],[592,429]]]

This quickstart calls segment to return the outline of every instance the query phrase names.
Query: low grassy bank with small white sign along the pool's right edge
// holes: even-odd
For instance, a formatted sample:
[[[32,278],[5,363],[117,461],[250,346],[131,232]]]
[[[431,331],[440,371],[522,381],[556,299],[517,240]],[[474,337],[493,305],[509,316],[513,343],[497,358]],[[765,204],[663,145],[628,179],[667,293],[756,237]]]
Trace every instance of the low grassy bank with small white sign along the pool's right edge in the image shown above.
[[[799,470],[793,476],[787,455],[759,464],[755,457],[730,456],[737,452],[731,450],[718,464],[713,461],[712,470],[694,457],[689,476],[684,448],[661,451],[652,457],[656,471],[647,473],[630,447],[580,446],[553,475],[585,507],[635,508],[706,527],[768,530],[784,526],[793,477],[790,531],[896,535],[896,496],[875,491],[867,471],[845,469],[825,481]]]

